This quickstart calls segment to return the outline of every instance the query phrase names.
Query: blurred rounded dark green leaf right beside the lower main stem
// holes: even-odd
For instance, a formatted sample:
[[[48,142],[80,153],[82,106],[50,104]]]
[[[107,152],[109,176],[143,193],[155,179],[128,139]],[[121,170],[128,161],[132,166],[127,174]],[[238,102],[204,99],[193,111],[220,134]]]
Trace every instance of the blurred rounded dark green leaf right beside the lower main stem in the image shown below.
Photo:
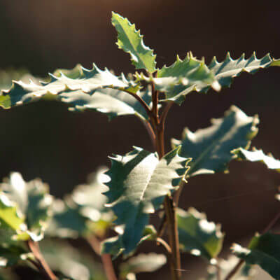
[[[205,214],[194,208],[176,210],[181,251],[200,255],[208,260],[216,258],[223,246],[221,225],[207,221]]]

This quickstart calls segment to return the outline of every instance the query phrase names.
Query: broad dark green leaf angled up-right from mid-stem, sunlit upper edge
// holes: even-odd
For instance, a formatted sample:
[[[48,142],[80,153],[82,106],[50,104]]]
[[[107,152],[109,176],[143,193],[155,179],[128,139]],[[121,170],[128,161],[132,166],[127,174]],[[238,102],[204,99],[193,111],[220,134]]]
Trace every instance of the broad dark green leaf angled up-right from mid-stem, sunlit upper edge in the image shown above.
[[[248,117],[236,106],[231,106],[224,118],[212,119],[211,123],[196,132],[186,127],[182,140],[172,139],[172,146],[182,146],[182,157],[193,158],[188,176],[227,171],[228,162],[235,158],[231,151],[248,148],[258,133],[258,117]]]

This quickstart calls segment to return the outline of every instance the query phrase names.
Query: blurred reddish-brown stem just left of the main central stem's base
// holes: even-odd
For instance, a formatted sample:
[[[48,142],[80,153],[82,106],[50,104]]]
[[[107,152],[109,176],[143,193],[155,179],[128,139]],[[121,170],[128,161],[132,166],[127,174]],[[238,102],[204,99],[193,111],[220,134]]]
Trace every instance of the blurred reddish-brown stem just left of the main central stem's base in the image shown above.
[[[118,280],[117,276],[115,274],[115,270],[113,268],[113,262],[111,259],[111,255],[101,253],[99,239],[97,239],[97,237],[92,235],[91,237],[87,237],[86,240],[87,240],[88,244],[90,244],[90,247],[92,248],[92,250],[95,253],[97,253],[97,255],[100,255],[100,257],[102,259],[103,269],[104,269],[107,279],[108,280]]]

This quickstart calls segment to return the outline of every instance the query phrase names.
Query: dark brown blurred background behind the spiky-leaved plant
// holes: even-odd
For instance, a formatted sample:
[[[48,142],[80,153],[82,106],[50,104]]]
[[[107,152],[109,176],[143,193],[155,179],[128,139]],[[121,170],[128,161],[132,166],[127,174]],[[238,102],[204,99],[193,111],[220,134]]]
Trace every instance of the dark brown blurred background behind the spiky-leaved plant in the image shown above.
[[[227,51],[234,58],[253,51],[258,57],[267,52],[280,57],[280,1],[1,0],[0,69],[25,67],[34,76],[45,76],[77,63],[90,68],[94,62],[116,73],[133,71],[129,55],[115,44],[112,10],[141,29],[146,45],[158,55],[158,67],[189,50],[207,63],[214,55],[221,61]],[[253,76],[243,73],[220,93],[189,94],[169,113],[167,150],[169,139],[179,139],[183,127],[207,127],[210,118],[222,117],[235,104],[249,116],[260,117],[253,146],[280,158],[279,80],[280,69],[271,68]],[[109,165],[108,155],[127,153],[132,145],[153,149],[134,117],[109,123],[100,113],[71,113],[56,102],[0,109],[0,122],[0,177],[10,171],[21,172],[27,181],[39,176],[59,197],[84,183],[99,165]],[[279,174],[261,164],[232,162],[230,174],[191,179],[181,207],[196,207],[210,221],[221,223],[230,244],[261,231],[276,214],[279,183]],[[188,279],[195,275],[193,261],[197,259],[183,257]]]

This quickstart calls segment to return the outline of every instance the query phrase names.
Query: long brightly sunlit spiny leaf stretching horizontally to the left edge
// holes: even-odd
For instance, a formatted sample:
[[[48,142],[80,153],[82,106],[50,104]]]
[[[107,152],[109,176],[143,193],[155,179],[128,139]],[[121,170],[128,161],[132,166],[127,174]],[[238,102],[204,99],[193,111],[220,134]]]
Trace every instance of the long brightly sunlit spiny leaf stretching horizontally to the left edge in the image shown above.
[[[32,80],[30,83],[13,81],[10,90],[2,90],[0,94],[0,106],[3,109],[36,101],[45,94],[57,95],[63,92],[76,92],[81,90],[87,94],[92,94],[101,88],[113,88],[116,90],[127,90],[135,93],[139,90],[139,85],[128,81],[125,76],[117,77],[108,69],[102,71],[95,64],[91,70],[82,68],[82,73],[78,78],[69,78],[63,73],[60,76],[50,74],[50,82],[36,84]]]

